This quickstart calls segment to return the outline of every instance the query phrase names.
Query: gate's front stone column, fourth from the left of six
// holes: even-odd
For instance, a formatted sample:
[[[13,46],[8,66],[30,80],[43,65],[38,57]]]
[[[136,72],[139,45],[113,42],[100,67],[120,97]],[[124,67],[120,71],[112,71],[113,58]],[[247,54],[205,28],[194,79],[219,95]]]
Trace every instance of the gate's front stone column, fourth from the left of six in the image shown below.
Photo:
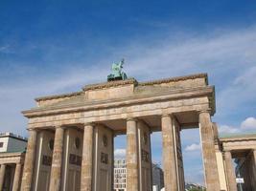
[[[139,191],[138,128],[134,118],[127,120],[127,191]]]

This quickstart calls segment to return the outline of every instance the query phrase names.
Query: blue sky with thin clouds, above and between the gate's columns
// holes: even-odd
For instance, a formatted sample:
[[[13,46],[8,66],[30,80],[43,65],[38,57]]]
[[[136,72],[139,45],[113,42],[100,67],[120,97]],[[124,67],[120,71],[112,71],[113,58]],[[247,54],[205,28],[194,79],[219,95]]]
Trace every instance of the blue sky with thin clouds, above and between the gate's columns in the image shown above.
[[[255,18],[254,0],[2,0],[0,129],[26,136],[20,111],[34,97],[105,81],[124,57],[138,80],[208,73],[221,133],[255,131]],[[152,136],[160,162],[161,135]],[[182,141],[186,180],[203,182],[198,130],[182,132]]]

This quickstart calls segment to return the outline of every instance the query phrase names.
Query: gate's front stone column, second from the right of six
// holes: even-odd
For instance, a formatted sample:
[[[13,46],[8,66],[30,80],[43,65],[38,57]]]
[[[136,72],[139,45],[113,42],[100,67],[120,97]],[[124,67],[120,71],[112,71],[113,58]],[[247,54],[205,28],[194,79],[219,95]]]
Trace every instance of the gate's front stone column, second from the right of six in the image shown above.
[[[173,117],[162,116],[163,167],[165,191],[177,191],[175,131]]]

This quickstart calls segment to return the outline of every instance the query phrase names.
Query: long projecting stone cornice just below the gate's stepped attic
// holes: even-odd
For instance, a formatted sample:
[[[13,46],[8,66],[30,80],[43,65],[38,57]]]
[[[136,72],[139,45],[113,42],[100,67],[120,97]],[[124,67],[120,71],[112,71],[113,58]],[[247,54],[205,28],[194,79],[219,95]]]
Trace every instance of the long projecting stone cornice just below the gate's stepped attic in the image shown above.
[[[165,92],[152,93],[147,95],[135,95],[122,98],[114,98],[107,100],[97,100],[84,103],[70,104],[66,106],[46,107],[46,108],[35,108],[28,111],[23,111],[25,117],[39,117],[45,115],[63,114],[70,112],[81,112],[95,109],[104,109],[110,107],[120,107],[131,104],[147,103],[155,101],[163,101],[167,99],[177,99],[195,96],[212,96],[213,87],[197,87],[193,89],[181,89],[181,90],[169,90]]]

